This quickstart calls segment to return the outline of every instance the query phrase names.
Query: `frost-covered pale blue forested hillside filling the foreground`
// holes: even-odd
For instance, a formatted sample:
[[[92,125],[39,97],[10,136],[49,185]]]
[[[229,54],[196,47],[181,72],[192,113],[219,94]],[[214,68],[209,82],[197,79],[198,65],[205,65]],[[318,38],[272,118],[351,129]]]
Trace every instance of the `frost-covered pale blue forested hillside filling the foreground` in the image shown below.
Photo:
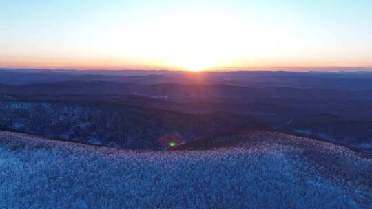
[[[0,208],[372,208],[372,161],[255,131],[233,148],[127,151],[0,132]]]

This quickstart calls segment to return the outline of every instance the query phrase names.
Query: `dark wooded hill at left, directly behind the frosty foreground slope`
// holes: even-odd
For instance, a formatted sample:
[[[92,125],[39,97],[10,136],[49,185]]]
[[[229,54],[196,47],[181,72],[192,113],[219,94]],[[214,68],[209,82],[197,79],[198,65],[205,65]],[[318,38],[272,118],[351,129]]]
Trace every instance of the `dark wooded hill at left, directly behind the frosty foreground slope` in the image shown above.
[[[59,140],[160,150],[229,129],[264,128],[247,115],[188,114],[104,102],[0,101],[0,125]]]

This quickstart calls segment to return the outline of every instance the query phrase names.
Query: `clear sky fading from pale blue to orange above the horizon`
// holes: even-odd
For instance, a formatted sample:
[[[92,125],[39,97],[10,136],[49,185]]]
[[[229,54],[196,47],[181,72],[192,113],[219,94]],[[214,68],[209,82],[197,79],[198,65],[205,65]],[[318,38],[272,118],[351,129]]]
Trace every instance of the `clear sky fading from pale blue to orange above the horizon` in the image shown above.
[[[371,67],[371,9],[370,0],[0,0],[0,67]]]

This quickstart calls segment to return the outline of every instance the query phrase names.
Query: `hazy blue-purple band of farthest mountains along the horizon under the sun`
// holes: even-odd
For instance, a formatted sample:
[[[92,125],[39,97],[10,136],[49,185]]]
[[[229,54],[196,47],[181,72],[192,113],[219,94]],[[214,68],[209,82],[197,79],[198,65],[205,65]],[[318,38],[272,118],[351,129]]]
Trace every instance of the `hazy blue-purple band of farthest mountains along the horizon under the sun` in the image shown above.
[[[340,69],[342,70],[342,69]],[[172,71],[72,71],[0,69],[0,83],[34,84],[66,81],[110,81],[156,85],[162,83],[225,83],[249,87],[294,87],[372,90],[372,72],[172,72]]]

